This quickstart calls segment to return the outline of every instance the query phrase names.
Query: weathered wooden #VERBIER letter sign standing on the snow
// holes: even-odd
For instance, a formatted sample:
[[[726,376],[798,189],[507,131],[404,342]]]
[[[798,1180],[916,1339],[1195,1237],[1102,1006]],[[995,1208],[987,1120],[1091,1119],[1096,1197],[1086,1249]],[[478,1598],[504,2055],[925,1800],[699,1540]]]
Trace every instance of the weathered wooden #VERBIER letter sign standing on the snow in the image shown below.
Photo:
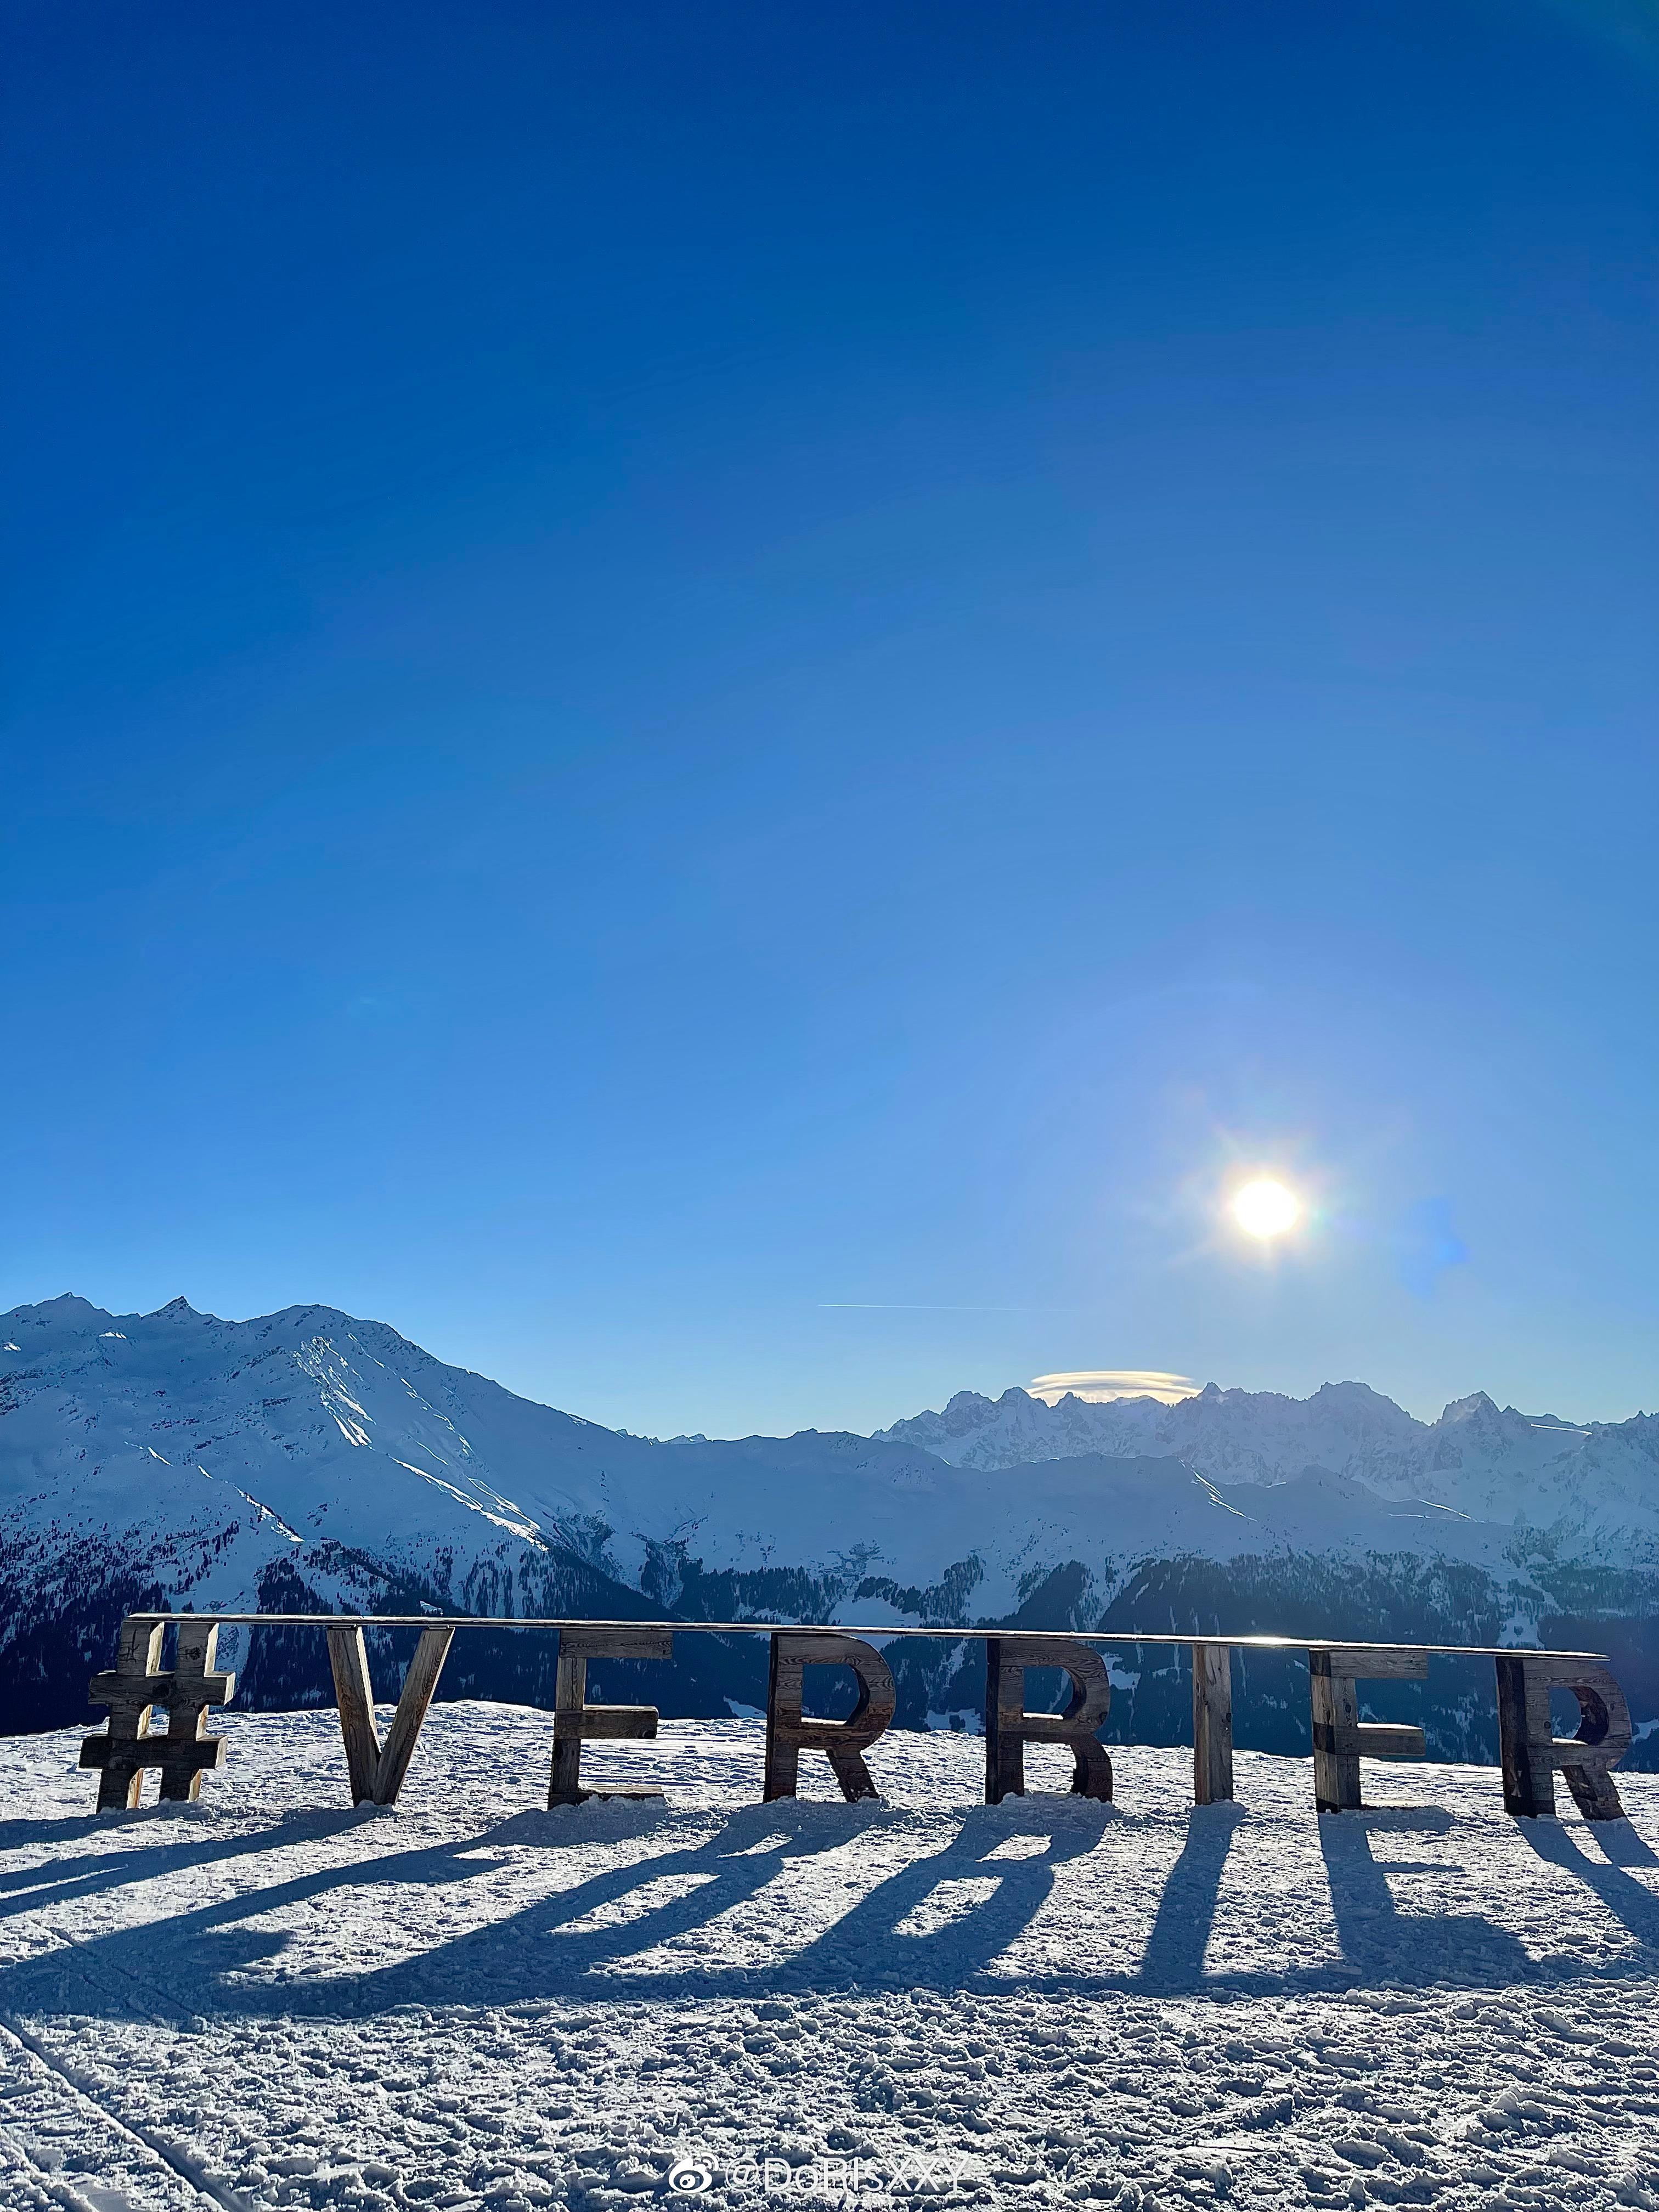
[[[586,1694],[593,1659],[672,1659],[675,1635],[768,1635],[772,1670],[765,1710],[768,1801],[796,1794],[801,1752],[818,1750],[856,1803],[874,1798],[876,1781],[865,1752],[891,1725],[898,1694],[876,1644],[867,1637],[929,1637],[940,1641],[984,1639],[984,1796],[1000,1805],[1024,1796],[1026,1743],[1057,1743],[1073,1756],[1071,1787],[1077,1796],[1110,1803],[1113,1763],[1099,1743],[1110,1714],[1110,1677],[1093,1641],[1046,1637],[1022,1630],[984,1628],[783,1628],[757,1621],[677,1621],[672,1628],[637,1621],[526,1621],[336,1615],[133,1615],[122,1624],[115,1668],[91,1681],[93,1703],[111,1708],[108,1730],[86,1736],[82,1767],[100,1770],[97,1809],[135,1807],[144,1772],[161,1774],[161,1798],[195,1798],[201,1774],[223,1765],[226,1747],[208,1736],[208,1708],[234,1692],[234,1674],[215,1670],[219,1628],[281,1626],[321,1628],[334,1670],[345,1765],[354,1803],[394,1805],[409,1770],[420,1725],[431,1705],[451,1639],[462,1628],[520,1628],[557,1632],[553,1690],[553,1767],[549,1805],[582,1805],[591,1796],[659,1798],[659,1787],[593,1785],[582,1778],[582,1745],[591,1741],[650,1741],[657,1734],[655,1705],[591,1705]],[[161,1637],[177,1624],[179,1648],[173,1670],[161,1672]],[[420,1628],[414,1661],[403,1681],[385,1745],[374,1723],[374,1690],[363,1641],[365,1628]],[[1555,1809],[1555,1774],[1586,1820],[1619,1820],[1624,1807],[1613,1787],[1613,1767],[1632,1741],[1630,1708],[1619,1683],[1597,1652],[1526,1652],[1493,1646],[1405,1646],[1405,1644],[1301,1644],[1292,1637],[1183,1637],[1135,1635],[1115,1644],[1188,1646],[1192,1652],[1192,1803],[1214,1805],[1232,1796],[1232,1648],[1274,1652],[1307,1650],[1307,1697],[1314,1734],[1314,1803],[1321,1812],[1360,1805],[1360,1759],[1425,1759],[1420,1728],[1360,1721],[1358,1683],[1422,1681],[1429,1657],[1491,1657],[1498,1663],[1498,1723],[1502,1739],[1504,1807],[1522,1818]],[[858,1703],[845,1721],[807,1719],[803,1710],[805,1670],[845,1666],[858,1681]],[[1026,1712],[1024,1679],[1031,1668],[1057,1668],[1071,1681],[1064,1712]],[[1551,1690],[1571,1690],[1579,1705],[1573,1736],[1551,1728]],[[164,1705],[168,1728],[153,1730],[153,1708]]]

